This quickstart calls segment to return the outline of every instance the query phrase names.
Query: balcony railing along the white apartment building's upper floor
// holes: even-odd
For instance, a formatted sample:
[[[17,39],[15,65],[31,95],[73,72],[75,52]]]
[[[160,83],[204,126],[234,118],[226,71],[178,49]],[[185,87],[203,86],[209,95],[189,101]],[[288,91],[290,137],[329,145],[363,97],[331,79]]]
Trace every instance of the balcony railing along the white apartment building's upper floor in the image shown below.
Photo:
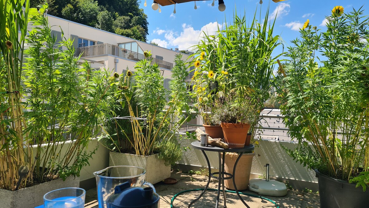
[[[81,57],[88,56],[99,56],[99,55],[113,55],[121,58],[126,58],[132,61],[140,61],[145,59],[144,54],[137,53],[135,51],[127,50],[119,46],[114,46],[112,44],[104,43],[94,46],[85,46],[77,48],[77,55],[81,54]],[[171,70],[173,68],[173,63],[168,61],[163,61],[157,58],[153,58],[152,61],[159,65],[161,68],[166,68]]]

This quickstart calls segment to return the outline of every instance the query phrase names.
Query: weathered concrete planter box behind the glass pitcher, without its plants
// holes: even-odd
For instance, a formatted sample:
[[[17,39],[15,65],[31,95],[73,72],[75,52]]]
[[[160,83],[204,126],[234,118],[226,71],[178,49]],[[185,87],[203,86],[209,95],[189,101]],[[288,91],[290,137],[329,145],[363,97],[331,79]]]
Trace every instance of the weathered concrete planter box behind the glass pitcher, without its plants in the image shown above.
[[[109,166],[130,165],[146,170],[146,181],[156,184],[170,177],[170,166],[164,165],[164,161],[158,158],[158,154],[140,156],[119,152],[110,152]]]

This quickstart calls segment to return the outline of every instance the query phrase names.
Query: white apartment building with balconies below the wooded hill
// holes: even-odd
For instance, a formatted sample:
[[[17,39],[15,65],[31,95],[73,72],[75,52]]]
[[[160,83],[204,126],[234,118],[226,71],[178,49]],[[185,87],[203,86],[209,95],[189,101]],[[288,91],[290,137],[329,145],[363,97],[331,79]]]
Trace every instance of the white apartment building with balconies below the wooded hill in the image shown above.
[[[189,56],[180,51],[170,50],[149,43],[110,33],[94,27],[48,15],[53,35],[61,40],[61,30],[65,38],[71,38],[76,55],[90,62],[93,68],[109,68],[119,74],[127,68],[134,71],[135,63],[144,58],[144,51],[151,51],[153,61],[163,70],[165,83],[171,76],[176,54],[182,54],[183,60]]]

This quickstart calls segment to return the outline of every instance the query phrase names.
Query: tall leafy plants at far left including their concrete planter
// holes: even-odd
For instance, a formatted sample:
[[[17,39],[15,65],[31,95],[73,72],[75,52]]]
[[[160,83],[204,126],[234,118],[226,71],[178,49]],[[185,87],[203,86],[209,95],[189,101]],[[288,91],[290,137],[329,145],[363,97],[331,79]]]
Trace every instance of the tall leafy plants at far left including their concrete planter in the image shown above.
[[[46,192],[79,187],[112,100],[109,72],[80,66],[72,41],[52,37],[47,5],[29,4],[5,1],[0,13],[1,207],[36,207]]]

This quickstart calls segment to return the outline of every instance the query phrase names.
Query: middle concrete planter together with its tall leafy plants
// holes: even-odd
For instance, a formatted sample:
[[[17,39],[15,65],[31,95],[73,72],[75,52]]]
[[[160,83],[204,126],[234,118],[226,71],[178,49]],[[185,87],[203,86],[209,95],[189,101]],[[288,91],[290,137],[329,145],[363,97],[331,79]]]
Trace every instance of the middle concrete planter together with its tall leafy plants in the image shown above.
[[[183,84],[189,72],[182,56],[176,56],[168,91],[158,64],[152,64],[148,51],[144,54],[146,58],[135,66],[134,78],[127,70],[126,74],[117,75],[114,84],[117,101],[128,113],[120,116],[130,122],[120,125],[116,119],[109,121],[108,125],[115,127],[113,132],[105,131],[107,134],[100,139],[104,138],[103,144],[111,150],[110,166],[144,168],[146,181],[155,184],[170,177],[170,165],[182,158],[183,148],[177,143],[182,135],[177,132],[192,119],[182,112],[190,111],[187,87]]]

